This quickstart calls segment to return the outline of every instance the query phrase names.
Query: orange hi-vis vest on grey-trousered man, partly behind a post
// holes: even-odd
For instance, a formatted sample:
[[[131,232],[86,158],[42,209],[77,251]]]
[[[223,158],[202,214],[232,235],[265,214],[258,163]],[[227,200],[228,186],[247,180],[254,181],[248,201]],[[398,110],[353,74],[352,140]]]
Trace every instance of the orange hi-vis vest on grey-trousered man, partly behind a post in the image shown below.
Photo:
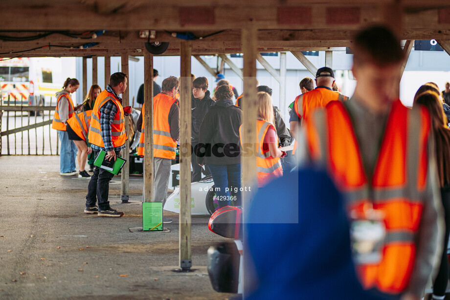
[[[169,112],[170,107],[177,100],[159,93],[153,97],[153,156],[167,159],[175,159],[177,141],[170,135]],[[137,155],[144,156],[144,105],[142,105],[142,128]]]

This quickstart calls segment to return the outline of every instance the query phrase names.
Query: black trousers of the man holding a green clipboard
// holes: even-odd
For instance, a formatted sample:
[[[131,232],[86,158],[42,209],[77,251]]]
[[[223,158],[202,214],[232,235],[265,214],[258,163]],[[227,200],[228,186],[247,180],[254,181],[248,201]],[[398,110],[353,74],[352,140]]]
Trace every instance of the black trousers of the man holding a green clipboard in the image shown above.
[[[100,150],[93,150],[95,158],[97,158]],[[115,151],[118,156],[119,151]],[[113,173],[100,169],[95,166],[94,173],[90,177],[88,185],[88,194],[86,195],[86,207],[94,207],[98,202],[98,209],[106,211],[110,209],[110,201],[108,201],[108,193],[110,192],[110,181],[114,176]]]

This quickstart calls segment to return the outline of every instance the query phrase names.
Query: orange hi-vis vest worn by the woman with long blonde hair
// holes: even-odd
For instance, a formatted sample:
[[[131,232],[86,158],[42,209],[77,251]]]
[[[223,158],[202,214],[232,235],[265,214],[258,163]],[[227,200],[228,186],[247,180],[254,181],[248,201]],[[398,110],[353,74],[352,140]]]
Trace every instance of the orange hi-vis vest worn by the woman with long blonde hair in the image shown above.
[[[272,128],[275,130],[275,126],[272,123],[265,120],[256,121],[256,132],[258,132],[258,145],[256,152],[256,167],[258,176],[258,187],[266,186],[270,181],[277,177],[283,176],[283,171],[281,169],[281,160],[279,157],[272,157],[270,151],[263,150],[264,138],[266,137],[267,130]],[[239,138],[242,143],[241,134],[242,125],[239,127]],[[278,139],[276,139],[276,146],[278,147]],[[253,149],[253,148],[252,148]]]

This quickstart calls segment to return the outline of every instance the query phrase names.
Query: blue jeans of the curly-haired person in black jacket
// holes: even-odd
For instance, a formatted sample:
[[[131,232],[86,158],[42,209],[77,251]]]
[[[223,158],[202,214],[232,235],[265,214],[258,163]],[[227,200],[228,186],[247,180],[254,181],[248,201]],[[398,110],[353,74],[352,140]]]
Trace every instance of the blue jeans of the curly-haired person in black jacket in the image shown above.
[[[230,205],[230,195],[236,196],[234,204],[241,205],[241,164],[215,165],[206,164],[211,172],[216,188],[216,195],[219,197],[219,207]],[[217,190],[219,188],[219,190]],[[228,190],[229,189],[229,190]],[[231,191],[231,193],[230,193]]]

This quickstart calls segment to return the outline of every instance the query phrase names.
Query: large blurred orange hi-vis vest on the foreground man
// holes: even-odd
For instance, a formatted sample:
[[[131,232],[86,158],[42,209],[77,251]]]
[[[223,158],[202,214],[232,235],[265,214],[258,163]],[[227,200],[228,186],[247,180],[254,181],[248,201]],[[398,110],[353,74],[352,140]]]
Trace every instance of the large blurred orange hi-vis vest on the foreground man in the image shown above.
[[[328,169],[346,197],[347,209],[363,214],[373,205],[384,213],[382,260],[358,265],[362,285],[390,294],[404,291],[414,267],[414,241],[426,198],[427,109],[393,103],[372,176],[364,171],[359,142],[341,102],[310,115],[305,126],[312,160]]]

